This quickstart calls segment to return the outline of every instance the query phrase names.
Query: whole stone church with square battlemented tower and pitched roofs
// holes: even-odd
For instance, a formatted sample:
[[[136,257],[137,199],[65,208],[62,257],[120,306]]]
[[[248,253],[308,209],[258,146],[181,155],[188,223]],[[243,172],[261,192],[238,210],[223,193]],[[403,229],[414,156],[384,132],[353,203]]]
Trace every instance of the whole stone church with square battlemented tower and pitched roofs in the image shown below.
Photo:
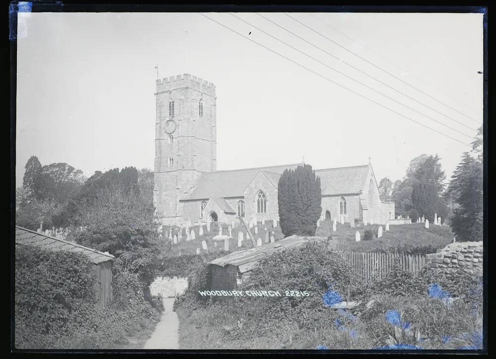
[[[189,74],[156,82],[155,188],[164,225],[278,219],[277,184],[300,164],[217,171],[216,97],[211,82]],[[315,170],[321,219],[383,224],[394,203],[382,202],[372,165]]]

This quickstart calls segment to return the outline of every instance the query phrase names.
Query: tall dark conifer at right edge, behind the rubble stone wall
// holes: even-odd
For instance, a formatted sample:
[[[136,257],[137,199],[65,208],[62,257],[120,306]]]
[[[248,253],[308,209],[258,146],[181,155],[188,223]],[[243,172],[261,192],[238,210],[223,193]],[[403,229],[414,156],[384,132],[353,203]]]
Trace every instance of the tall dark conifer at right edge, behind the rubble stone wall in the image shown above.
[[[465,152],[447,190],[457,204],[451,228],[458,240],[483,238],[483,183],[482,162]]]

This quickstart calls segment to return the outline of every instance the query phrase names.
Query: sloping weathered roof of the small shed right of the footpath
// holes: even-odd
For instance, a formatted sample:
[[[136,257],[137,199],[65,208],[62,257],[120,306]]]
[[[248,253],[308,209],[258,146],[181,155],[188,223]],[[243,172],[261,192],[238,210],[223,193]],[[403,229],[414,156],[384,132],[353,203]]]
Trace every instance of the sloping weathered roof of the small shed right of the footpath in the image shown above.
[[[248,272],[253,268],[256,262],[264,257],[273,253],[281,252],[286,249],[296,248],[308,241],[321,240],[325,238],[320,237],[301,237],[290,236],[285,239],[280,239],[275,242],[262,244],[259,247],[253,247],[245,250],[230,253],[220,258],[216,258],[209,264],[216,264],[219,266],[234,265],[237,266],[241,273]]]

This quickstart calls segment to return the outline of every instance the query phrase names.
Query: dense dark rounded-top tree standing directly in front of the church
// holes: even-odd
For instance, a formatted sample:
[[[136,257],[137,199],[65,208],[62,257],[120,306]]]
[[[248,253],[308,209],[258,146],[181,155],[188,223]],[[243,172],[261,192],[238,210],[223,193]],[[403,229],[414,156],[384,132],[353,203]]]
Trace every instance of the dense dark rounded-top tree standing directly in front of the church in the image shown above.
[[[315,177],[312,167],[285,170],[279,179],[277,197],[283,234],[313,236],[322,207],[320,178]]]

